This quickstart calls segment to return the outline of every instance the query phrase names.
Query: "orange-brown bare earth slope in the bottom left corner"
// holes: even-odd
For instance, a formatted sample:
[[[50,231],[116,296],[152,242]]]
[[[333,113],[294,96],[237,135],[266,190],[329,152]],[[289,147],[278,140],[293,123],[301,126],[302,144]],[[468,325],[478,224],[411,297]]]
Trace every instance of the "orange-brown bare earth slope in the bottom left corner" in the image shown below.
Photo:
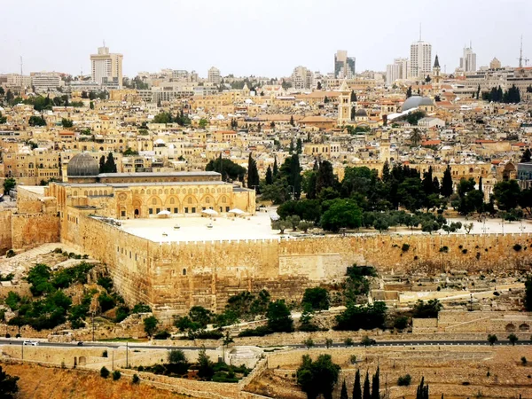
[[[184,399],[188,396],[176,395],[142,382],[131,383],[122,376],[113,381],[111,377],[102,379],[96,372],[61,370],[35,364],[1,364],[5,372],[18,376],[18,399]]]

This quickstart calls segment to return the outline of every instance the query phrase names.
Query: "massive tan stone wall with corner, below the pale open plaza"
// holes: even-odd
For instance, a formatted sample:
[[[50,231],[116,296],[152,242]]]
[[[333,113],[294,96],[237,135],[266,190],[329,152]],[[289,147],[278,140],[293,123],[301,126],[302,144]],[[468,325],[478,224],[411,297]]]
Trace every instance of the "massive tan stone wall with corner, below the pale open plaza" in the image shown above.
[[[396,273],[529,268],[532,239],[383,234],[157,243],[73,208],[62,219],[61,239],[105,262],[126,301],[145,301],[168,317],[194,305],[221,310],[242,291],[299,301],[309,286],[340,281],[353,263]]]

